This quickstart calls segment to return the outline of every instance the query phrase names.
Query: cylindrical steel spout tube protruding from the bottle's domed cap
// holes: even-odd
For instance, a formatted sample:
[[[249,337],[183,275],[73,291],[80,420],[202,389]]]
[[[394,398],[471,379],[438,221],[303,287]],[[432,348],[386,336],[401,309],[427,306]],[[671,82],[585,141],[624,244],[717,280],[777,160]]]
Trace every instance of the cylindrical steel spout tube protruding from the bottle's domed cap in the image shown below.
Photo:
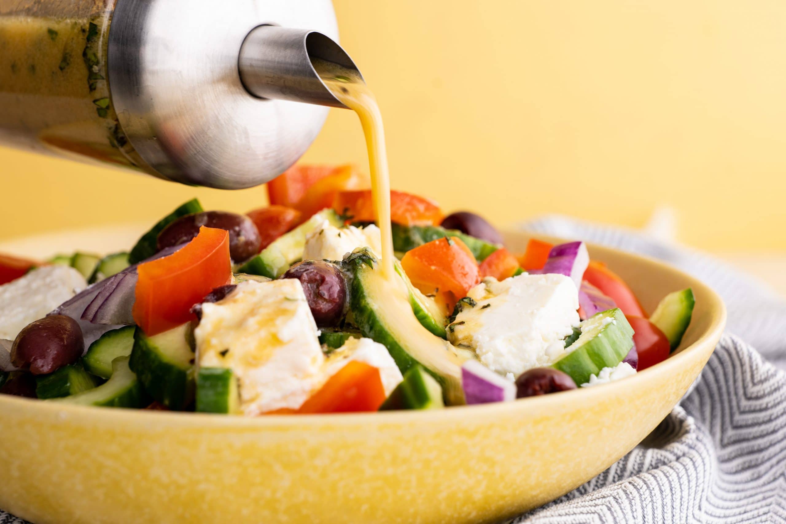
[[[318,31],[260,25],[248,33],[241,47],[241,82],[248,93],[259,98],[347,108],[314,71],[312,58],[358,71],[347,52]]]

